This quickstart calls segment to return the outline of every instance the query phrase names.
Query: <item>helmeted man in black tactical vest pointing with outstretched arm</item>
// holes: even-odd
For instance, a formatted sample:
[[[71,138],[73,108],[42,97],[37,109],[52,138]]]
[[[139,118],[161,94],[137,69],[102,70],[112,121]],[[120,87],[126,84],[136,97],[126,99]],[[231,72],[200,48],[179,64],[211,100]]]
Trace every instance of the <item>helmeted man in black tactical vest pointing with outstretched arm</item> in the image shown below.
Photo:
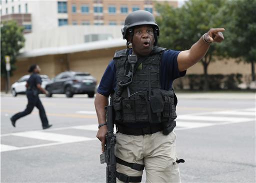
[[[104,149],[107,127],[104,106],[108,96],[115,111],[117,182],[179,183],[175,150],[176,96],[174,79],[199,61],[212,42],[223,40],[223,28],[211,28],[189,50],[157,47],[159,27],[144,10],[131,12],[124,21],[127,49],[115,52],[100,81],[95,97],[99,129],[97,138]],[[132,48],[128,48],[131,43]]]

